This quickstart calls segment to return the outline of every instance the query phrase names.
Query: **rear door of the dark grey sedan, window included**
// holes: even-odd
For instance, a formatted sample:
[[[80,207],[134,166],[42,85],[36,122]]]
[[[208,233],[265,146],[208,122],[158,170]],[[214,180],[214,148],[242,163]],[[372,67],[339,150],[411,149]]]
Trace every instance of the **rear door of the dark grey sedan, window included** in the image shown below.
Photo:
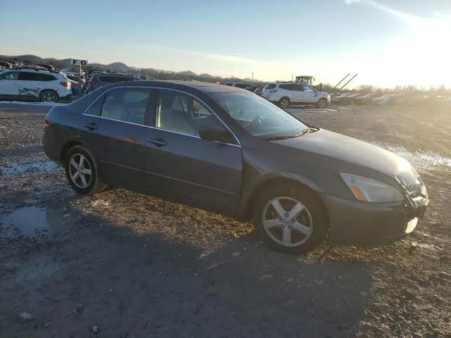
[[[106,184],[141,190],[144,184],[144,115],[152,89],[117,87],[102,94],[85,112],[82,139],[94,152]]]

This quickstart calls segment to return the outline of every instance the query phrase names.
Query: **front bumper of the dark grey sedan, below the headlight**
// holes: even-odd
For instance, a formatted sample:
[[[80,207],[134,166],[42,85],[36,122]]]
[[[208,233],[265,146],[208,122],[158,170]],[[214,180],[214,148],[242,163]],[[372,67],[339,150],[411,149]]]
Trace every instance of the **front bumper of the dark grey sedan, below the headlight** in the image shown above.
[[[365,203],[323,194],[329,215],[330,239],[336,244],[383,244],[402,239],[424,218],[428,199],[414,205]]]

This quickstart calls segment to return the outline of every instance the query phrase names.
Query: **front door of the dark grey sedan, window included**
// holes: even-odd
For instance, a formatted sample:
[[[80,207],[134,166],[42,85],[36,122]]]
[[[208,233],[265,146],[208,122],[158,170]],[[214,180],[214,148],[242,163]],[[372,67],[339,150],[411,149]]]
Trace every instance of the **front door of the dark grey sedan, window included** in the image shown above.
[[[202,101],[183,92],[159,89],[154,116],[146,142],[147,189],[234,213],[242,180],[236,137],[230,133],[230,144],[200,138],[202,127],[225,126]]]

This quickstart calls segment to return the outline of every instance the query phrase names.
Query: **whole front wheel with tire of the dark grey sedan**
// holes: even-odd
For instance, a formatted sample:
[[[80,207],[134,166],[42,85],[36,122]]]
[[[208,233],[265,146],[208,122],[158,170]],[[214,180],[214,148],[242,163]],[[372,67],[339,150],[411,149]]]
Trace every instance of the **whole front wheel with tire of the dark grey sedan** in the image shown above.
[[[280,212],[274,207],[277,201],[282,208],[279,208]],[[295,217],[292,218],[290,213],[295,214]],[[328,233],[328,218],[314,193],[302,187],[280,184],[257,199],[254,226],[272,249],[299,255],[311,251],[323,241]]]

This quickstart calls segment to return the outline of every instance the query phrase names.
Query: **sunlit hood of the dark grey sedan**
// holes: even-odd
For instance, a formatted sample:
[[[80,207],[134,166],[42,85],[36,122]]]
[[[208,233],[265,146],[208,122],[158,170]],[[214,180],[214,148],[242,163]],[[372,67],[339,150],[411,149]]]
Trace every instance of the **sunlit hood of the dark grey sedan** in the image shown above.
[[[373,144],[329,130],[320,129],[302,137],[276,142],[319,156],[335,158],[360,168],[369,168],[395,180],[400,179],[407,185],[414,184],[418,179],[418,174],[405,158]]]

